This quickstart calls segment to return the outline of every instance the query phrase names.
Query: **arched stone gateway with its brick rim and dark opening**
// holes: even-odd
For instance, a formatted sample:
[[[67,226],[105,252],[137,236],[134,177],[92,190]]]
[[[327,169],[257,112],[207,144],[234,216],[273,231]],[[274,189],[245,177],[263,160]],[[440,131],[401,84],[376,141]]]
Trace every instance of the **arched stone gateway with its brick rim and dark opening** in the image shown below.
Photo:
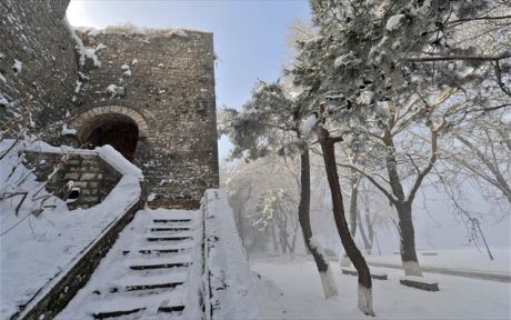
[[[81,146],[89,148],[111,144],[124,158],[133,161],[141,141],[148,136],[144,117],[132,108],[121,106],[96,107],[71,121]]]

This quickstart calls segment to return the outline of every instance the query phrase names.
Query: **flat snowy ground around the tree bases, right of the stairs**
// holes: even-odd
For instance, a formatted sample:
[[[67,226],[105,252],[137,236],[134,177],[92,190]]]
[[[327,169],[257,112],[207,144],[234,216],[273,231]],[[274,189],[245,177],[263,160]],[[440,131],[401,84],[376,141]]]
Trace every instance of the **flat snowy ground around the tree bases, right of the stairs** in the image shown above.
[[[339,297],[324,300],[314,263],[303,257],[251,259],[253,282],[267,319],[371,319],[357,309],[357,277],[331,262]],[[439,292],[401,286],[401,270],[373,268],[389,280],[373,280],[377,319],[511,319],[510,283],[425,273]],[[259,276],[258,276],[259,274]]]

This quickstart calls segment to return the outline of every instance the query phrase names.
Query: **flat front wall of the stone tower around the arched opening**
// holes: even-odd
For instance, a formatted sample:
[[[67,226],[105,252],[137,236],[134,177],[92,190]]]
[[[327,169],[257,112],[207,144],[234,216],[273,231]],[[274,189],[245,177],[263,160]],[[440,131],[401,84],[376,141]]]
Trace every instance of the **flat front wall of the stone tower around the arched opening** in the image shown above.
[[[219,183],[212,33],[107,29],[79,36],[84,46],[102,49],[101,67],[88,71],[74,114],[101,106],[140,113],[148,132],[134,163],[156,194],[150,204],[198,208],[206,189]]]

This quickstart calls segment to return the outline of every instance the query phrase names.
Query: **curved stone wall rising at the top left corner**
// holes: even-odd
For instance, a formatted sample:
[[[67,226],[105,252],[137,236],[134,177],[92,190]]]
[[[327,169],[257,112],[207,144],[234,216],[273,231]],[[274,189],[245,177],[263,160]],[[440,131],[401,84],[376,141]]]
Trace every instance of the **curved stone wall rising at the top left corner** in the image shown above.
[[[78,62],[64,21],[69,2],[0,1],[0,129],[22,114],[26,127],[31,119],[36,131],[48,130],[72,106]]]

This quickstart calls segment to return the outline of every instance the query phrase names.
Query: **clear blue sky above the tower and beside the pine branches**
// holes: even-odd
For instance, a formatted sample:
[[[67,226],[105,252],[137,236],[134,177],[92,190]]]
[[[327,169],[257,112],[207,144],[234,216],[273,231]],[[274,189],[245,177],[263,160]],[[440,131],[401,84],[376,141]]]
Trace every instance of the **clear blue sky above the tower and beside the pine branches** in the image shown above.
[[[71,0],[76,27],[187,28],[214,33],[217,106],[240,107],[257,79],[273,81],[291,58],[285,37],[293,19],[309,19],[308,0]],[[230,148],[219,143],[224,158]]]

